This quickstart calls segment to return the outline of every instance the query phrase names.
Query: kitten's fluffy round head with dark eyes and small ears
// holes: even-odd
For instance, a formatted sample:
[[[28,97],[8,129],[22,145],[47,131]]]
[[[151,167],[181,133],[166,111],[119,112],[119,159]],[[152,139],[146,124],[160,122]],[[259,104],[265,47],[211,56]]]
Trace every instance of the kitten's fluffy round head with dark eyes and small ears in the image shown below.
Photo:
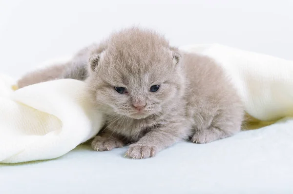
[[[180,54],[163,36],[131,28],[106,42],[89,58],[87,80],[102,111],[141,119],[162,114],[182,96]]]

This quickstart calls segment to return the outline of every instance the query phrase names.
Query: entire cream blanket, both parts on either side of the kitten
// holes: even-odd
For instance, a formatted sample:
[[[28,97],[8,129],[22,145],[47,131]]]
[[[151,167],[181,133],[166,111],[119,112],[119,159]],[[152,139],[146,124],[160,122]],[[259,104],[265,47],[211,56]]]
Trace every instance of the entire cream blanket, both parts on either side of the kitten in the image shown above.
[[[293,61],[216,44],[181,49],[208,55],[223,66],[253,118],[275,121],[293,115]],[[13,80],[0,77],[2,163],[59,157],[103,125],[81,81],[56,80],[15,92],[12,86]]]

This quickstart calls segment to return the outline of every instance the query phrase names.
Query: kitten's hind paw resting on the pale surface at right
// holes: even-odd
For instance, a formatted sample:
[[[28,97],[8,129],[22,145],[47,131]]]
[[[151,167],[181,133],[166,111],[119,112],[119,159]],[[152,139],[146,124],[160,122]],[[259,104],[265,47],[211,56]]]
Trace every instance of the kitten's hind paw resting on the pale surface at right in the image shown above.
[[[193,143],[209,143],[226,137],[218,129],[210,128],[202,131],[197,131],[191,138]]]

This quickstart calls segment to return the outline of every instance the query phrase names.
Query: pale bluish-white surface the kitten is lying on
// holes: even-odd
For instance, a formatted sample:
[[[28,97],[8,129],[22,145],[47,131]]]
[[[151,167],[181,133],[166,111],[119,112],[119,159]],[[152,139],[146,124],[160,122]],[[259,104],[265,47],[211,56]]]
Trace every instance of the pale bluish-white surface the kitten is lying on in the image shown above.
[[[0,193],[292,194],[292,126],[179,143],[144,160],[124,158],[126,148],[81,147],[51,161],[0,165]]]

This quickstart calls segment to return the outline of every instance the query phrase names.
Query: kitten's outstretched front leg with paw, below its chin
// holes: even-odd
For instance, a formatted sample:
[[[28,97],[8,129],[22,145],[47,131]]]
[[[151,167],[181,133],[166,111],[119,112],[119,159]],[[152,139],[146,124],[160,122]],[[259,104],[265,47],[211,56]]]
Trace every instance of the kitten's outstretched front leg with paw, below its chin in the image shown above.
[[[133,159],[155,156],[159,151],[188,137],[188,127],[181,123],[170,123],[152,129],[139,141],[129,146],[126,155]]]

